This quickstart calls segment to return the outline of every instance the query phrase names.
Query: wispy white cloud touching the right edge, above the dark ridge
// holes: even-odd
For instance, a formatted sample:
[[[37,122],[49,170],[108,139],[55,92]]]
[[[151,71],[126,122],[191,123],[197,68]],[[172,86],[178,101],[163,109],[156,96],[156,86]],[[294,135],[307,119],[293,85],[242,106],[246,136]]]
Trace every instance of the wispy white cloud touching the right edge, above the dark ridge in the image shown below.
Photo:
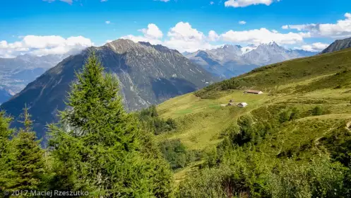
[[[351,13],[345,13],[344,16],[344,20],[338,20],[336,23],[284,25],[282,28],[306,31],[311,33],[313,37],[351,37]]]

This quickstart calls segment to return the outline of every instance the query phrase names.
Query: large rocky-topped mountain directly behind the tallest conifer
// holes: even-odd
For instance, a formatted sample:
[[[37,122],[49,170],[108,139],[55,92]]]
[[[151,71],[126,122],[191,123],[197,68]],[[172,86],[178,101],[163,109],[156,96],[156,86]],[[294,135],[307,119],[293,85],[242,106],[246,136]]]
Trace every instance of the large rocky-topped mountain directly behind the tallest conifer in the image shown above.
[[[105,71],[118,76],[128,110],[162,103],[218,80],[177,50],[148,42],[116,40],[64,59],[1,105],[1,109],[16,119],[27,103],[37,135],[44,136],[45,124],[56,120],[57,110],[64,110],[69,85],[76,79],[74,71],[82,69],[88,50],[97,50]],[[18,127],[18,123],[13,126]]]

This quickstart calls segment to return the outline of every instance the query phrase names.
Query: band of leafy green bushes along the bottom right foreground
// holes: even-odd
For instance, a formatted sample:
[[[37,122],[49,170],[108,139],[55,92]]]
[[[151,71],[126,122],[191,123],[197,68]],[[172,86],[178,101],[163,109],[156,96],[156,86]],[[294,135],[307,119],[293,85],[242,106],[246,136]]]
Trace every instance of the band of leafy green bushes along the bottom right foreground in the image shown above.
[[[190,173],[178,197],[350,197],[351,170],[328,156],[278,161],[234,148],[219,158],[220,164]]]

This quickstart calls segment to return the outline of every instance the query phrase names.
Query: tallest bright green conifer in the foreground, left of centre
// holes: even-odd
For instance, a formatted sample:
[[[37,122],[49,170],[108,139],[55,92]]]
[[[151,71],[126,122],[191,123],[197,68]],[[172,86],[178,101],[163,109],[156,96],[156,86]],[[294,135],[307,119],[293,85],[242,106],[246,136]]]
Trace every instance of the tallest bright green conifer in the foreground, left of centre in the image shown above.
[[[60,122],[49,127],[52,188],[85,190],[94,197],[168,197],[169,189],[155,187],[160,182],[155,170],[162,169],[141,152],[138,122],[124,110],[117,77],[103,73],[96,53],[90,52],[76,73]]]

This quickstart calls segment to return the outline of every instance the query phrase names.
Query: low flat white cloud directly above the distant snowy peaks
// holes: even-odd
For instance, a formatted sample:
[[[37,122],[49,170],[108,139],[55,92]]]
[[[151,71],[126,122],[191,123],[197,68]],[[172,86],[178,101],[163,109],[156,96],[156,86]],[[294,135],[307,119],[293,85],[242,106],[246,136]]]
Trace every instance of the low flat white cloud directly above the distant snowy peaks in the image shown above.
[[[220,35],[221,39],[227,42],[245,42],[255,45],[275,41],[280,45],[293,45],[303,42],[304,37],[310,37],[309,33],[278,33],[275,30],[266,28],[256,30],[234,31],[229,30],[227,33]]]

